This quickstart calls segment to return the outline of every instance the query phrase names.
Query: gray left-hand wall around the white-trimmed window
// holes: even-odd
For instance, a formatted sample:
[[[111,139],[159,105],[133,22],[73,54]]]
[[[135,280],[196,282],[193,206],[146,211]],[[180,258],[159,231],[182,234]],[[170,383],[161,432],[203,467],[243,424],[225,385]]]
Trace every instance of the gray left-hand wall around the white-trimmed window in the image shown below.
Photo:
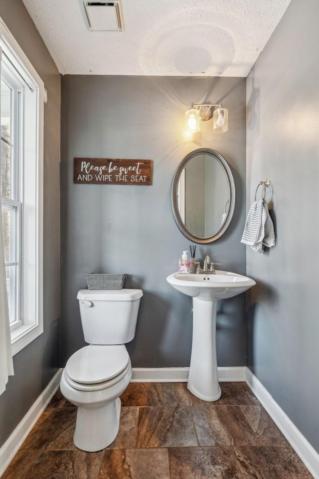
[[[15,375],[0,396],[0,446],[59,367],[61,79],[21,0],[0,0],[0,16],[48,92],[44,106],[44,333],[13,358]]]

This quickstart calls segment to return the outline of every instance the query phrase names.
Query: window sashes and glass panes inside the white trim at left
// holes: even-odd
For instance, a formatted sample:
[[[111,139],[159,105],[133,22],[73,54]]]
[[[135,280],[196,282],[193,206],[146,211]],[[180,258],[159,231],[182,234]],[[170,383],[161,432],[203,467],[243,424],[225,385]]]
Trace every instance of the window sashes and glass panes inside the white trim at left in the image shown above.
[[[21,106],[23,88],[16,76],[1,68],[1,195],[6,287],[11,330],[21,319],[21,187],[23,169]]]

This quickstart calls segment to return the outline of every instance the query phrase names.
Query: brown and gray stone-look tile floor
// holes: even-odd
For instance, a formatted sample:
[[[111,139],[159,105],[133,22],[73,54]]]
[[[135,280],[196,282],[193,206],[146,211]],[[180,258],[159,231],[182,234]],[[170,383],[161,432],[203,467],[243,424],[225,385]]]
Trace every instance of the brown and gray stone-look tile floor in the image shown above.
[[[245,383],[221,389],[207,403],[185,383],[131,383],[97,453],[74,446],[76,408],[58,391],[2,479],[312,479]]]

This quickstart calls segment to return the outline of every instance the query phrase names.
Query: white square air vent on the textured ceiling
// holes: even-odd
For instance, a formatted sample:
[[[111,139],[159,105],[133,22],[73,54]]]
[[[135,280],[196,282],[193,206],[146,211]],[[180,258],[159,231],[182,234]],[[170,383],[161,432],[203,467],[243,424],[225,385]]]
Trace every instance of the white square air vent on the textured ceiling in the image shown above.
[[[90,31],[123,31],[123,17],[120,0],[82,0],[88,18]]]

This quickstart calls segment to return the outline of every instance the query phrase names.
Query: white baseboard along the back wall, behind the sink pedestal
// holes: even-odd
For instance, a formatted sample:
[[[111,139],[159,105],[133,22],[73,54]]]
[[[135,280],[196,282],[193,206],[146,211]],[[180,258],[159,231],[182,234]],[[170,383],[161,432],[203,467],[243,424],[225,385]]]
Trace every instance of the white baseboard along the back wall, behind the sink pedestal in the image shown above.
[[[132,383],[187,383],[189,368],[132,368]],[[219,381],[246,381],[246,366],[218,368]]]

